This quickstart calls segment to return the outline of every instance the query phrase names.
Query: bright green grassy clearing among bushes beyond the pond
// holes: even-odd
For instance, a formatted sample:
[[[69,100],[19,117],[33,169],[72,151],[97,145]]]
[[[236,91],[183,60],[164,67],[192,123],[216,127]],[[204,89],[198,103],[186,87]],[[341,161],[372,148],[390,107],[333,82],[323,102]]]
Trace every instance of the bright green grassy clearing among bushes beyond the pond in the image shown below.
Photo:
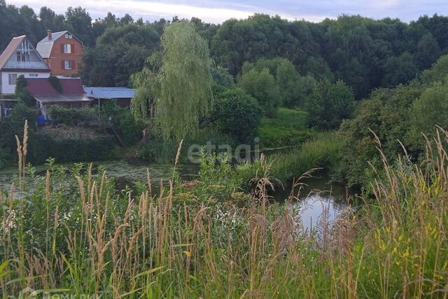
[[[307,113],[297,109],[280,108],[274,118],[263,118],[258,136],[262,148],[297,146],[316,134],[306,127]]]

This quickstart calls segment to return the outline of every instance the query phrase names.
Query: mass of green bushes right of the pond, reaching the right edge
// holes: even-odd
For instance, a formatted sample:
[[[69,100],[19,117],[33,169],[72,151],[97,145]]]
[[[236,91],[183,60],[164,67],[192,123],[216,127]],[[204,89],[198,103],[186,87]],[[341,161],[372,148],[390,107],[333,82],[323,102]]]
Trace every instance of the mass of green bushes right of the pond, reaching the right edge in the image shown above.
[[[370,189],[368,182],[376,175],[371,166],[380,169],[382,165],[377,141],[388,159],[401,154],[402,146],[411,161],[424,158],[421,133],[431,137],[435,125],[448,125],[446,62],[446,57],[441,57],[419,81],[375,90],[357,105],[353,119],[341,125],[344,146],[337,180]]]

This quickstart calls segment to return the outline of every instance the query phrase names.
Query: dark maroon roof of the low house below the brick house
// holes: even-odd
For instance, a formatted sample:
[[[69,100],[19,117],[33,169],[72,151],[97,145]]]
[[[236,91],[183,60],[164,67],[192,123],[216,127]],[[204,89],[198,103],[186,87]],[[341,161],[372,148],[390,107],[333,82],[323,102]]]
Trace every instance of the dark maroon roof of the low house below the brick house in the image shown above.
[[[48,78],[27,78],[27,90],[31,95],[83,95],[80,78],[59,78],[62,94],[52,87]]]

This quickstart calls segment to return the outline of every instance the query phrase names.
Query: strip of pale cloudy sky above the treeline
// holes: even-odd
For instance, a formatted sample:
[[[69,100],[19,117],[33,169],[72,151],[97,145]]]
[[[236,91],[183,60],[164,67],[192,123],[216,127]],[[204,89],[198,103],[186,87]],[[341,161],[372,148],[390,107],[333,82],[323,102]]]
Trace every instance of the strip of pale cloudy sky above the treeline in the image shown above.
[[[253,13],[280,15],[289,20],[321,21],[341,14],[363,15],[369,18],[400,18],[409,22],[420,15],[448,15],[448,0],[6,0],[7,4],[34,8],[48,6],[64,13],[69,6],[82,6],[95,18],[104,18],[107,12],[117,17],[125,13],[134,20],[142,17],[153,21],[159,18],[201,18],[205,22],[221,23],[230,18],[247,18]]]

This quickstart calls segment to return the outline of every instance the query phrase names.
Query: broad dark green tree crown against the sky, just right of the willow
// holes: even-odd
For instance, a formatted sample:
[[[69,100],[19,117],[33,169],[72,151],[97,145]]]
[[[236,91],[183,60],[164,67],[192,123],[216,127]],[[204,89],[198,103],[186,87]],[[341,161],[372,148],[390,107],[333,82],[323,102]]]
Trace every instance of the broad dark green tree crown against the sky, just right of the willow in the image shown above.
[[[246,20],[225,21],[211,42],[213,56],[233,75],[239,73],[244,62],[258,57],[282,56],[301,65],[317,47],[306,23],[258,14]]]

